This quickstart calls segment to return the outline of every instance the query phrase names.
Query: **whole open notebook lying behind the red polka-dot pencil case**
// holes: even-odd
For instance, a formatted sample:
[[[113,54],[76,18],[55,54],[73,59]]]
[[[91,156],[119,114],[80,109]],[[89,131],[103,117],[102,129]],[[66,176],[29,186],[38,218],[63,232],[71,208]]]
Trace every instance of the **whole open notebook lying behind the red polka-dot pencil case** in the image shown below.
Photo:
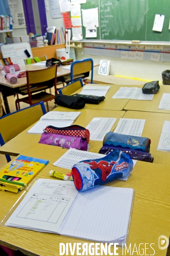
[[[31,127],[27,133],[42,134],[43,129],[45,129],[47,125],[52,125],[58,128],[70,126],[80,114],[81,112],[49,111],[41,116],[40,121]]]

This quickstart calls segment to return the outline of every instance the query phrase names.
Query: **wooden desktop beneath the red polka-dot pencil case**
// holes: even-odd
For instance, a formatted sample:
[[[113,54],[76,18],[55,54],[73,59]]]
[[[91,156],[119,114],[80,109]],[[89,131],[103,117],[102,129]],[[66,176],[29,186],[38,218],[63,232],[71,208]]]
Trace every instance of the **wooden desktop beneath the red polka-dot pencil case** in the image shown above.
[[[80,110],[74,110],[70,108],[63,108],[58,107],[55,108],[54,111],[68,111],[68,112],[75,112],[80,111],[81,115],[75,120],[74,124],[81,125],[83,127],[86,127],[88,123],[94,118],[94,117],[116,117],[117,120],[113,127],[111,128],[111,131],[116,127],[117,122],[119,122],[119,118],[122,118],[122,116],[125,114],[125,111],[104,111],[104,110],[91,110],[91,109],[80,109]],[[19,135],[14,137],[12,140],[10,140],[8,143],[0,147],[0,154],[9,154],[12,156],[17,156],[18,154],[21,154],[23,150],[30,147],[34,143],[38,143],[40,140],[41,135],[38,134],[27,134],[27,131],[32,127],[31,125],[28,129],[21,132]],[[102,141],[94,141],[90,140],[89,143],[91,152],[99,152],[99,149],[102,147]],[[51,146],[53,147],[53,146]]]

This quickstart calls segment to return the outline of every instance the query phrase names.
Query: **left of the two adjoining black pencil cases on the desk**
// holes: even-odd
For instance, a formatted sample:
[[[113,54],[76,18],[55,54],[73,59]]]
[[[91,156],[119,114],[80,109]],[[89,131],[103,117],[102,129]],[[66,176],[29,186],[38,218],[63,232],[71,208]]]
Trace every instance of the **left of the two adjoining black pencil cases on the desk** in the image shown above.
[[[85,100],[83,98],[76,98],[63,94],[57,94],[55,96],[55,103],[62,107],[74,109],[81,109],[85,106]]]

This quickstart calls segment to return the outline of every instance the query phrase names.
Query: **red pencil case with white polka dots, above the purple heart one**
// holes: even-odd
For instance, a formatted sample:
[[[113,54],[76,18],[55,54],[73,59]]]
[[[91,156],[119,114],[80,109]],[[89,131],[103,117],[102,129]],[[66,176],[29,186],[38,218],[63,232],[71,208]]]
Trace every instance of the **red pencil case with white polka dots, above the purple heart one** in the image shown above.
[[[43,129],[46,133],[53,133],[53,134],[63,134],[69,135],[74,137],[82,137],[86,138],[87,142],[90,140],[90,131],[88,129],[80,126],[80,125],[71,125],[67,127],[58,128],[52,125],[48,125],[45,129]]]

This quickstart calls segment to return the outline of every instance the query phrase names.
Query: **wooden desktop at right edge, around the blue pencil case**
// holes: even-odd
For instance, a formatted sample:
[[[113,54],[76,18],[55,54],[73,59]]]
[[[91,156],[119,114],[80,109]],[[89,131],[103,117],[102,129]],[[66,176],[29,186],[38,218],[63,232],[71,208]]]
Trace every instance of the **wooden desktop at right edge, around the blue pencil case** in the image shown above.
[[[158,143],[161,136],[164,121],[170,121],[168,113],[154,113],[141,111],[127,111],[123,118],[145,119],[142,137],[150,138],[150,153],[154,157],[153,163],[170,166],[170,152],[158,151]]]

